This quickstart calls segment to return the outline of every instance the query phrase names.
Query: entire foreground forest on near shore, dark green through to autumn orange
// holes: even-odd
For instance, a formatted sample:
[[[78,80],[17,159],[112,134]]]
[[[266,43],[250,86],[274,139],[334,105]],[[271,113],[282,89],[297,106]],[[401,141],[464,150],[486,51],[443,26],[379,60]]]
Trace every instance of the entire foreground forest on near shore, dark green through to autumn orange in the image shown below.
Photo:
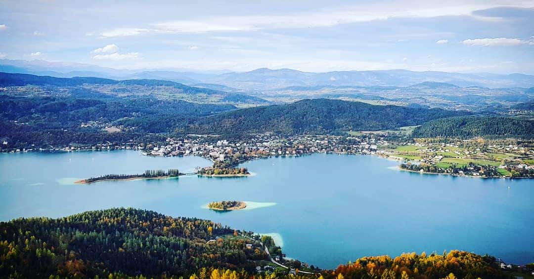
[[[237,234],[208,220],[136,209],[89,211],[59,219],[20,218],[0,222],[0,277],[249,278],[256,262],[269,256],[262,246],[247,248],[247,243],[254,243],[247,237],[219,237]],[[271,254],[281,253],[272,238],[259,240]],[[505,278],[495,258],[462,251],[364,257],[316,274],[295,276],[288,271],[254,276]]]

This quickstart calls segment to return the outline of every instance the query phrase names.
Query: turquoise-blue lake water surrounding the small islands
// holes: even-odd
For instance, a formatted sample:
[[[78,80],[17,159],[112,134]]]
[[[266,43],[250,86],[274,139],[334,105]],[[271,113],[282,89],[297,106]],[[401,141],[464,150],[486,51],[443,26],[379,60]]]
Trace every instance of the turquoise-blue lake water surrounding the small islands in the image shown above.
[[[186,172],[211,162],[126,150],[0,154],[0,220],[124,206],[272,234],[288,257],[322,268],[363,256],[451,249],[534,262],[534,180],[419,174],[391,168],[397,164],[372,156],[315,154],[247,162],[242,166],[255,175],[246,178],[74,185],[103,174]],[[232,212],[205,209],[221,200],[254,203]]]

